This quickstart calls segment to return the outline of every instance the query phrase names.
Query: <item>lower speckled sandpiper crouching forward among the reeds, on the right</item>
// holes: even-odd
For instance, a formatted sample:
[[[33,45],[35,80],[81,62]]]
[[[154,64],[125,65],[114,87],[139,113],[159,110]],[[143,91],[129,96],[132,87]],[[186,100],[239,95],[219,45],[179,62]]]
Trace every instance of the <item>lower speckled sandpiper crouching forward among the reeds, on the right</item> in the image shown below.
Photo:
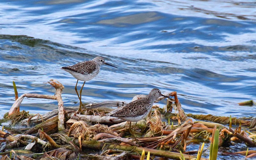
[[[117,117],[122,120],[128,121],[128,122],[130,122],[130,126],[131,126],[131,122],[136,122],[135,123],[135,127],[136,127],[136,124],[138,121],[140,121],[148,116],[148,113],[150,112],[154,102],[160,96],[169,98],[169,97],[163,95],[159,89],[154,88],[150,91],[150,93],[148,94],[148,96],[146,96],[145,99],[140,99],[140,100],[135,100],[133,102],[130,102],[126,106],[124,106],[120,109],[119,108],[116,109],[116,112],[114,110],[113,111],[114,113],[110,116]],[[133,137],[134,137],[135,127],[134,127],[133,133],[132,133]]]

